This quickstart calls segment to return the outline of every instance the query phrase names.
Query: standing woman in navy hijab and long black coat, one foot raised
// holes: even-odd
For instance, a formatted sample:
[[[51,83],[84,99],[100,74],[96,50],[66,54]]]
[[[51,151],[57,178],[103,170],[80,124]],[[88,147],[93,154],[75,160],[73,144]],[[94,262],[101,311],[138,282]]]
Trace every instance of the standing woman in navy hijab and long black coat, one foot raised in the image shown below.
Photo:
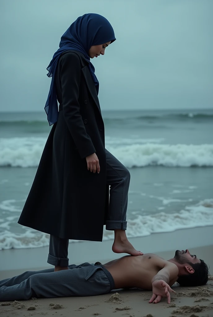
[[[114,230],[114,252],[142,254],[126,238],[130,173],[105,149],[90,62],[115,40],[105,17],[80,16],[47,68],[52,81],[45,111],[53,127],[18,223],[50,234],[48,263],[55,271],[68,268],[68,239],[102,241],[104,224]]]

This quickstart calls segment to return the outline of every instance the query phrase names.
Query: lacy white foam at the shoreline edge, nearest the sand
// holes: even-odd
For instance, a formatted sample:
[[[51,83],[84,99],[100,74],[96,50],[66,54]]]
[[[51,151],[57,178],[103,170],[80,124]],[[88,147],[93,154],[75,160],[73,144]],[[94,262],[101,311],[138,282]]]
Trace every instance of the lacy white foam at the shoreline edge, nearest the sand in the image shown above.
[[[13,233],[10,231],[9,219],[6,220],[6,222],[0,223],[0,227],[5,229],[0,234],[0,250],[48,246],[48,234],[29,228],[26,228],[24,233]],[[171,232],[210,225],[213,225],[213,199],[204,199],[197,204],[188,205],[176,213],[159,212],[152,215],[137,215],[134,219],[128,219],[126,234],[128,237],[142,237],[157,232]],[[104,229],[103,240],[111,240],[113,237],[113,231]],[[70,240],[70,243],[72,242],[79,241]]]

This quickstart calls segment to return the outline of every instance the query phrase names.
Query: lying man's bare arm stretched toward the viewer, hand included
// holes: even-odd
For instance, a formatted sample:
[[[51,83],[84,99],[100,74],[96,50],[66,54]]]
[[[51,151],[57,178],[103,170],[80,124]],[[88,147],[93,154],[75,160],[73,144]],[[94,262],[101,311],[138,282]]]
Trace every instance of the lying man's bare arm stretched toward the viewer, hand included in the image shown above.
[[[167,297],[170,304],[170,292],[175,293],[170,285],[178,279],[178,267],[171,262],[164,264],[164,267],[152,278],[152,297],[149,303],[157,304],[162,297]]]

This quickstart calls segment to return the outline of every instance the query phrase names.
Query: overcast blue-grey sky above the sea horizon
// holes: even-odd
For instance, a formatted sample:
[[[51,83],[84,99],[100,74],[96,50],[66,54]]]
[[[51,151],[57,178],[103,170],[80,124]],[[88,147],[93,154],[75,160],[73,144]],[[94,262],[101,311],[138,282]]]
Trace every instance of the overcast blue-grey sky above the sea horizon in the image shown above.
[[[212,108],[212,0],[0,0],[0,111],[42,111],[47,66],[78,16],[116,41],[91,59],[102,110]]]

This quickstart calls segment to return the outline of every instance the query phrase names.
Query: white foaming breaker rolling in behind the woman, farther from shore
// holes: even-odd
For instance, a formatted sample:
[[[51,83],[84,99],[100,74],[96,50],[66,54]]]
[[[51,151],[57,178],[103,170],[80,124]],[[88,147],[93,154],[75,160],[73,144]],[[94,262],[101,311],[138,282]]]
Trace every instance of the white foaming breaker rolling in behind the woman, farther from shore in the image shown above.
[[[213,166],[213,145],[161,144],[162,139],[106,139],[106,148],[127,168]],[[0,139],[0,166],[37,167],[45,138]],[[133,144],[132,144],[132,143]],[[158,142],[158,143],[157,143]]]

